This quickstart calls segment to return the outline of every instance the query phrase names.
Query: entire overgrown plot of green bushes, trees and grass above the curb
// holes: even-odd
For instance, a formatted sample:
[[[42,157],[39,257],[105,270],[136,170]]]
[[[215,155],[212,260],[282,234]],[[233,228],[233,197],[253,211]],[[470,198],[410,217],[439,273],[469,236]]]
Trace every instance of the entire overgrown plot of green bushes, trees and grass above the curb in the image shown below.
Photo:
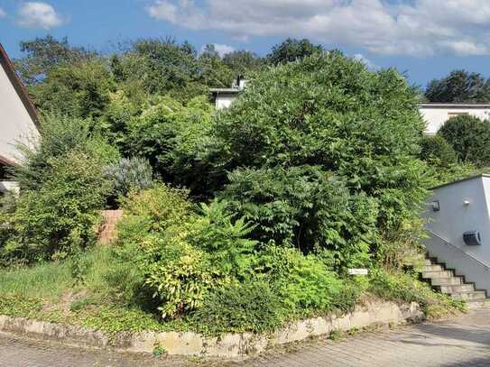
[[[32,86],[83,90],[62,110],[43,104],[42,140],[19,147],[22,190],[0,210],[0,314],[219,334],[369,298],[416,301],[428,317],[462,308],[421,283],[409,257],[422,252],[428,188],[474,167],[423,138],[417,94],[397,71],[312,52],[251,73],[225,111],[176,98],[178,83],[142,91],[128,72],[132,58],[152,69],[183,48],[139,43],[148,57],[54,67]],[[94,93],[61,78],[72,73],[91,76]],[[106,208],[125,214],[102,246]]]

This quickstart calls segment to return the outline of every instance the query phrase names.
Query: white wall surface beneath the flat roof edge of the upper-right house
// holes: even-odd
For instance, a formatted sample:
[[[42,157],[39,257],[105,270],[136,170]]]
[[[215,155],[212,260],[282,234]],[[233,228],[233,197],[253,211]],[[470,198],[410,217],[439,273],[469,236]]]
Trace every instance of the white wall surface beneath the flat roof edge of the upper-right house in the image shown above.
[[[427,124],[425,133],[433,135],[454,115],[474,115],[482,120],[490,118],[490,106],[483,107],[435,107],[421,106],[419,111]]]

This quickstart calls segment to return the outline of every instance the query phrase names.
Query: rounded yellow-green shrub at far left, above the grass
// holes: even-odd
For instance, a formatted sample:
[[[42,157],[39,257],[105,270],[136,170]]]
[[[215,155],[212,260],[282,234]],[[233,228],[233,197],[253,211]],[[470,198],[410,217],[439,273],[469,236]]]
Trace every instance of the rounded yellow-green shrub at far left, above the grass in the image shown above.
[[[4,259],[62,258],[96,239],[98,210],[110,192],[100,162],[70,151],[49,163],[41,186],[23,189],[14,213],[6,216],[10,235],[0,248]]]

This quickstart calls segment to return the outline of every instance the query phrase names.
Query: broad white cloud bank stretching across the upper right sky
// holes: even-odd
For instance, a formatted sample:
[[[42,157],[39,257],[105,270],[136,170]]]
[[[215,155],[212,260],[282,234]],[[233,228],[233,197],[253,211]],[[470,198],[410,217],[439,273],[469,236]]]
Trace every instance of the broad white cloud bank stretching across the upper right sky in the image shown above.
[[[292,35],[377,54],[490,54],[488,0],[153,0],[147,11],[234,39]]]

